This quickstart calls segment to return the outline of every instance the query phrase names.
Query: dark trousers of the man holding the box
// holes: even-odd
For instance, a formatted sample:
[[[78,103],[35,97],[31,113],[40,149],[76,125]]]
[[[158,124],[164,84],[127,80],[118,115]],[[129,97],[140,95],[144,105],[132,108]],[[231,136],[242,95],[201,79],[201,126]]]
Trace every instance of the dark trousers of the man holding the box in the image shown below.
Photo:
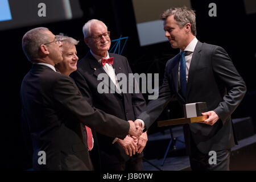
[[[229,171],[230,153],[230,150],[220,150],[213,151],[209,155],[193,148],[189,156],[191,169],[193,171]]]

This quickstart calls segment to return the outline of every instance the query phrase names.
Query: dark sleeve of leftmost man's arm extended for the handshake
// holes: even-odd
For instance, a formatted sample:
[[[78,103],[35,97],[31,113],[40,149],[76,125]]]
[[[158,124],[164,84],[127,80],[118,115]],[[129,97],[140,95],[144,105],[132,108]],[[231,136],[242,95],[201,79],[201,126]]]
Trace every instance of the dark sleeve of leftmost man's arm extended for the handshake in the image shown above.
[[[53,88],[56,102],[71,112],[77,121],[109,137],[125,138],[129,132],[129,122],[123,121],[101,110],[93,109],[76,88],[69,77],[60,77]]]

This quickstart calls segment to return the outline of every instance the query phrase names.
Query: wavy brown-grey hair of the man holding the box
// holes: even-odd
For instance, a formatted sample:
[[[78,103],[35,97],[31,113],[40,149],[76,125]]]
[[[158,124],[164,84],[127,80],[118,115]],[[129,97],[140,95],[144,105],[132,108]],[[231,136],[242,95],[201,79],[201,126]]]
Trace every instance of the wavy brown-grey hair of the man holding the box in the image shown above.
[[[167,9],[160,15],[162,20],[166,20],[168,16],[174,15],[178,26],[183,28],[185,24],[191,24],[191,32],[196,36],[196,14],[195,11],[189,9],[188,7],[171,7]]]

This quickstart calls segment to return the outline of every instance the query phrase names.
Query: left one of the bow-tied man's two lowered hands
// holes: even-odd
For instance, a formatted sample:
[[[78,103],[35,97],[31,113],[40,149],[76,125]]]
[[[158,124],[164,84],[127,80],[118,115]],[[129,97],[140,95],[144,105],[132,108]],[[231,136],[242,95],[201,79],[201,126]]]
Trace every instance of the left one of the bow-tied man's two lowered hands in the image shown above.
[[[119,146],[123,147],[127,155],[135,155],[135,152],[138,151],[136,139],[130,137],[129,135],[127,135],[123,140],[118,139],[117,143]]]

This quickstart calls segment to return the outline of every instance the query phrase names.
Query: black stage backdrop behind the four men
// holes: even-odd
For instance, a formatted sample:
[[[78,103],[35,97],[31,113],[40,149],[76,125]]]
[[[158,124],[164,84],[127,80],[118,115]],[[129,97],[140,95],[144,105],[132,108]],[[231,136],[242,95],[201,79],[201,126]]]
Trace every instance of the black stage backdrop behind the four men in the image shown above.
[[[217,5],[217,17],[209,17],[208,15],[208,5],[212,2]],[[246,96],[232,114],[232,117],[251,116],[255,123],[256,36],[254,24],[256,14],[246,15],[242,0],[192,0],[191,4],[196,11],[197,39],[201,42],[223,47],[229,53],[238,72],[246,82]],[[159,73],[160,83],[167,60],[179,52],[179,49],[172,49],[168,42],[145,47],[139,46],[133,5],[130,0],[80,1],[80,6],[84,15],[78,19],[0,31],[2,78],[1,168],[31,168],[20,127],[21,106],[19,98],[20,84],[24,75],[31,68],[31,63],[27,61],[22,51],[22,37],[31,28],[43,26],[49,28],[53,34],[63,32],[80,40],[77,52],[81,59],[88,51],[83,42],[82,26],[89,19],[100,19],[108,26],[112,40],[119,38],[120,35],[129,36],[122,55],[128,58],[133,72]],[[168,8],[166,7],[166,9]],[[26,14],[26,11],[24,14]],[[169,106],[173,109],[171,110],[171,113],[174,113],[173,115],[175,115],[174,108],[176,108],[174,105],[175,103]],[[153,133],[158,130],[153,126],[150,132]]]

